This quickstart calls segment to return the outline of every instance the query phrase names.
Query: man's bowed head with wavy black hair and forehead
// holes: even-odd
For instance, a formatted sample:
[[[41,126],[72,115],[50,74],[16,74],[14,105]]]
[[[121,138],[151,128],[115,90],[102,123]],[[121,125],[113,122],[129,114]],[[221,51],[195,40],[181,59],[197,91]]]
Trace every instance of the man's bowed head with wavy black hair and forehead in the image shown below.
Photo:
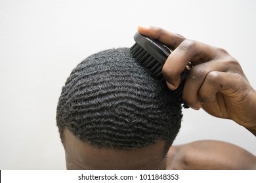
[[[129,48],[77,65],[56,115],[68,169],[162,169],[181,118],[181,103]]]

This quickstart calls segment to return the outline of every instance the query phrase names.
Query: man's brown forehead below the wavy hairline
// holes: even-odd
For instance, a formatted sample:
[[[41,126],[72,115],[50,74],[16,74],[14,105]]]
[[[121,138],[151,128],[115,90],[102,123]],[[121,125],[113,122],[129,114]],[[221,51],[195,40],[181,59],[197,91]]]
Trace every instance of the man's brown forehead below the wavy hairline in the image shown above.
[[[136,150],[112,150],[81,142],[68,129],[64,139],[67,169],[165,169],[165,141]]]

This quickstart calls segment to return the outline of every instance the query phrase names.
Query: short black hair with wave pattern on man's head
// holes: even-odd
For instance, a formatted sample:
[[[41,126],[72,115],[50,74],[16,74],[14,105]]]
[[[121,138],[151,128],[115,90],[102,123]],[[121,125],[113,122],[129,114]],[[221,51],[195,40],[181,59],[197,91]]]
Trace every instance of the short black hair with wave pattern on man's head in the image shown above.
[[[181,127],[181,103],[130,54],[104,50],[72,71],[58,101],[56,122],[98,148],[132,150],[166,141],[165,153]]]

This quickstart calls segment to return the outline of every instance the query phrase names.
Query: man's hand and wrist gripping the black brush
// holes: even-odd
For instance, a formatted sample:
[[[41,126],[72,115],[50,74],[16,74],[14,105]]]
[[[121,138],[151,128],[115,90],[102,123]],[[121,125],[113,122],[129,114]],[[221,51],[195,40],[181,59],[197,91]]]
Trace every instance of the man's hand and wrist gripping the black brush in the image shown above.
[[[256,92],[236,59],[222,48],[185,39],[159,27],[138,27],[142,35],[173,48],[163,65],[163,76],[171,90],[178,88],[181,73],[190,62],[183,100],[192,108],[231,119],[256,136]]]

